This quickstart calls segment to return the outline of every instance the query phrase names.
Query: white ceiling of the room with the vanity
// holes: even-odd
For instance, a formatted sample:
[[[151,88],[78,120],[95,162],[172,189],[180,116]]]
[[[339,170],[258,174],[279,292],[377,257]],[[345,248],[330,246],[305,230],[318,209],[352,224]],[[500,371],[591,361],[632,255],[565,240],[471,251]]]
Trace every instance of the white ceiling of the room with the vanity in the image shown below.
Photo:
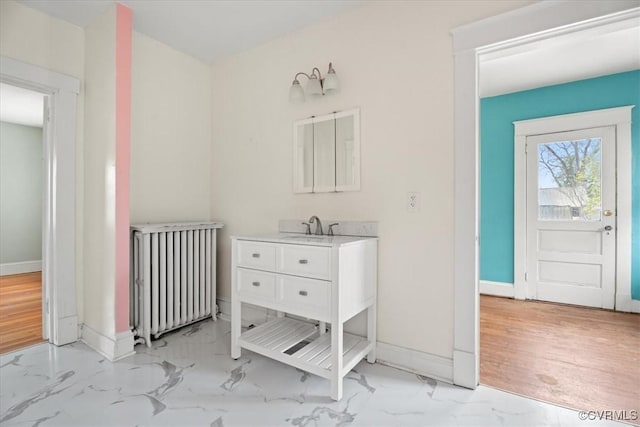
[[[18,0],[84,27],[107,0]],[[140,33],[211,64],[327,19],[366,1],[349,0],[119,0],[133,10]]]

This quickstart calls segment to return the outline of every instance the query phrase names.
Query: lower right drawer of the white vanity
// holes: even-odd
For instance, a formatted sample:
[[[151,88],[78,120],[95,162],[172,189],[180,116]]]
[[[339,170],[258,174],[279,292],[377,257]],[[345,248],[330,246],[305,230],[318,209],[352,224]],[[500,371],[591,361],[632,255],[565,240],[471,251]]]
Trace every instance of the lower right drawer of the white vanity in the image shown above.
[[[331,282],[278,276],[280,303],[293,313],[304,315],[311,310],[327,317],[331,307]]]

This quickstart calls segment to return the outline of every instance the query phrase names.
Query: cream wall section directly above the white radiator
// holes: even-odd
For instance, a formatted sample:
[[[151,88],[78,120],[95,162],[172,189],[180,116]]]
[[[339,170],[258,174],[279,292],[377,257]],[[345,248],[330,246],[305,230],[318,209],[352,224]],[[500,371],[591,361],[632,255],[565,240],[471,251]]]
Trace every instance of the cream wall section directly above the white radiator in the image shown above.
[[[210,67],[133,33],[131,223],[209,218]]]

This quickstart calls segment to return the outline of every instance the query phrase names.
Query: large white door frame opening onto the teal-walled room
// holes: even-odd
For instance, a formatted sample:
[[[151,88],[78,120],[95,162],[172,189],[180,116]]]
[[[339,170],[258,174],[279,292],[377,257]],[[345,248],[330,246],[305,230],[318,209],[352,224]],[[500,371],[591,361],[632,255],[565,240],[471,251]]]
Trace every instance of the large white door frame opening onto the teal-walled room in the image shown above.
[[[476,388],[480,376],[479,95],[480,56],[612,23],[637,25],[637,0],[538,2],[451,30],[454,63],[453,382]]]

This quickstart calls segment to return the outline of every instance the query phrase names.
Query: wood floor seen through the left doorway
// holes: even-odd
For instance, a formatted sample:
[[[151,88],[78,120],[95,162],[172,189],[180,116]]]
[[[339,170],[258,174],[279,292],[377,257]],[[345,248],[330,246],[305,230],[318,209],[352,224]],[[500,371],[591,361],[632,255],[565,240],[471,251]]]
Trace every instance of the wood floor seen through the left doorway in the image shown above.
[[[42,274],[0,277],[0,354],[42,341]]]

